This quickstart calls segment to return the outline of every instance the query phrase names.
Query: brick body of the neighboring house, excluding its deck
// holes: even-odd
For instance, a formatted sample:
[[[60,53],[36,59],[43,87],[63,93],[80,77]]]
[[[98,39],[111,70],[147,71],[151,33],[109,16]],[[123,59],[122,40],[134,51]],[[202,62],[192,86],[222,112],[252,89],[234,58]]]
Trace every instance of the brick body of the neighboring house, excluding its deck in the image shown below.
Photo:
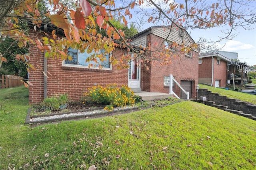
[[[213,87],[226,87],[228,63],[230,61],[219,53],[199,55],[198,82]]]

